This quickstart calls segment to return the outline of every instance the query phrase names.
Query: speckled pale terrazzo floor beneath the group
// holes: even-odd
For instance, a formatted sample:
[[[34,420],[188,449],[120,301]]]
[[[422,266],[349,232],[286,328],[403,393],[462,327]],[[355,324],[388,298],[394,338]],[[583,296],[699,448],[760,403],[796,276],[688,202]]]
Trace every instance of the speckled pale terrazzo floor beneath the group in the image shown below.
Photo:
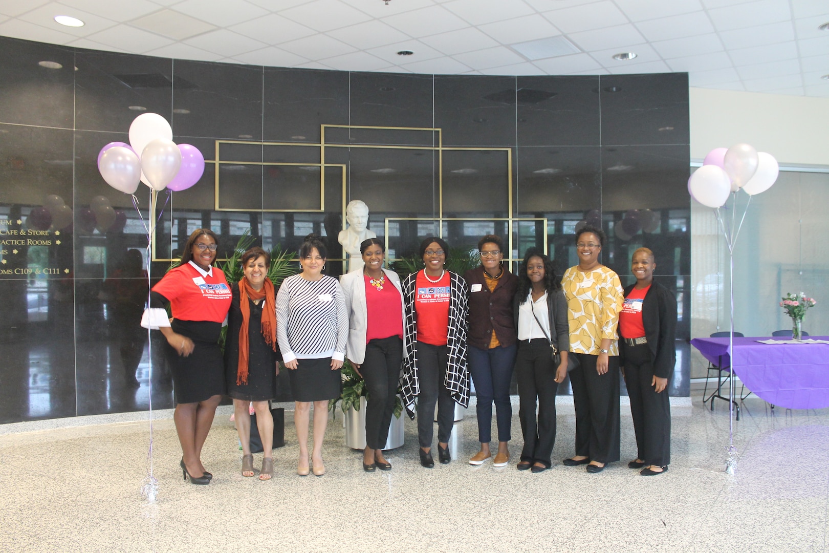
[[[734,423],[739,464],[729,476],[727,406],[711,412],[698,394],[691,400],[674,410],[670,470],[651,478],[627,468],[636,450],[626,407],[623,461],[599,474],[560,463],[574,437],[563,405],[555,464],[544,473],[516,470],[517,408],[511,463],[469,465],[478,450],[470,409],[455,424],[452,463],[421,468],[407,420],[388,473],[362,471],[338,414],[320,478],[295,473],[287,411],[270,482],[240,475],[225,409],[202,456],[215,475],[209,486],[182,481],[172,420],[157,420],[152,505],[138,493],[145,421],[0,432],[0,551],[829,551],[829,409],[770,410],[749,397]]]

